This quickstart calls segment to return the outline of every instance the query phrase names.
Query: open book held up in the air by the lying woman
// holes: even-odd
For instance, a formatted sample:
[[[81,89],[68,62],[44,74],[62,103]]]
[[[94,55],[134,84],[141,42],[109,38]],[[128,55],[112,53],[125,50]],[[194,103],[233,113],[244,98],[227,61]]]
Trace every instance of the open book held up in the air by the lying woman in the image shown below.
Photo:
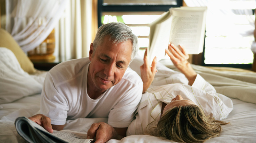
[[[169,42],[182,45],[188,54],[203,52],[207,7],[170,8],[150,24],[148,60],[165,57]]]

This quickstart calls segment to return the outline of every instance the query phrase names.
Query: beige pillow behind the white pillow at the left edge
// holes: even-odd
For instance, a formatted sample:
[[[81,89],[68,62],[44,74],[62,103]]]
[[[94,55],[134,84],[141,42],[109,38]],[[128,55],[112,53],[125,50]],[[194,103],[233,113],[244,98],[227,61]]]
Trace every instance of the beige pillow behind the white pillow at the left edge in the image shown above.
[[[19,61],[21,68],[30,74],[34,73],[36,70],[33,63],[22,51],[18,43],[12,38],[11,34],[0,28],[0,37],[0,47],[6,47],[10,49]]]

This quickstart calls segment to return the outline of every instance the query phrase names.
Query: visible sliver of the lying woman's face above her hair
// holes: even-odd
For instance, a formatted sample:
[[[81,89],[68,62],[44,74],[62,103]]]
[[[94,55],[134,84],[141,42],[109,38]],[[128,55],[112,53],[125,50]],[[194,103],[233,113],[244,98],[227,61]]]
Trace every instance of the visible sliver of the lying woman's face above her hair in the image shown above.
[[[183,105],[192,105],[195,104],[194,102],[190,101],[190,100],[185,100],[181,97],[181,95],[177,95],[175,98],[172,99],[172,101],[170,103],[168,103],[164,109],[163,109],[163,113],[168,111],[169,109],[172,109],[173,107],[176,106],[183,106]]]

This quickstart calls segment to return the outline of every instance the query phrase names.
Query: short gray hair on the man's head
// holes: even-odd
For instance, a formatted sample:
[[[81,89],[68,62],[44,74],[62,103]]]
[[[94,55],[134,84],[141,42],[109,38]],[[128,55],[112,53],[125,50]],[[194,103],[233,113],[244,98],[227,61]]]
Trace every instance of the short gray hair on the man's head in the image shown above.
[[[118,44],[125,41],[131,41],[132,42],[131,61],[134,60],[139,50],[138,37],[135,34],[133,34],[129,26],[120,22],[104,24],[99,27],[99,29],[97,30],[95,39],[93,41],[93,56],[95,54],[97,47],[100,44],[102,44],[106,36],[110,36],[109,40],[113,41],[113,44]]]

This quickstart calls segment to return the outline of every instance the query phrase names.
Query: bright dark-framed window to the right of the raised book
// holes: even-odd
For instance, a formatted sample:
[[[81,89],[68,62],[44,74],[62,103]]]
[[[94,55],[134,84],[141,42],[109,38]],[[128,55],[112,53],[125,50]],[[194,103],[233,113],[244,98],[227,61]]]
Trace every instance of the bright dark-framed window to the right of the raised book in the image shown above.
[[[227,5],[214,12],[208,9],[203,65],[250,68],[255,0],[233,0]]]

